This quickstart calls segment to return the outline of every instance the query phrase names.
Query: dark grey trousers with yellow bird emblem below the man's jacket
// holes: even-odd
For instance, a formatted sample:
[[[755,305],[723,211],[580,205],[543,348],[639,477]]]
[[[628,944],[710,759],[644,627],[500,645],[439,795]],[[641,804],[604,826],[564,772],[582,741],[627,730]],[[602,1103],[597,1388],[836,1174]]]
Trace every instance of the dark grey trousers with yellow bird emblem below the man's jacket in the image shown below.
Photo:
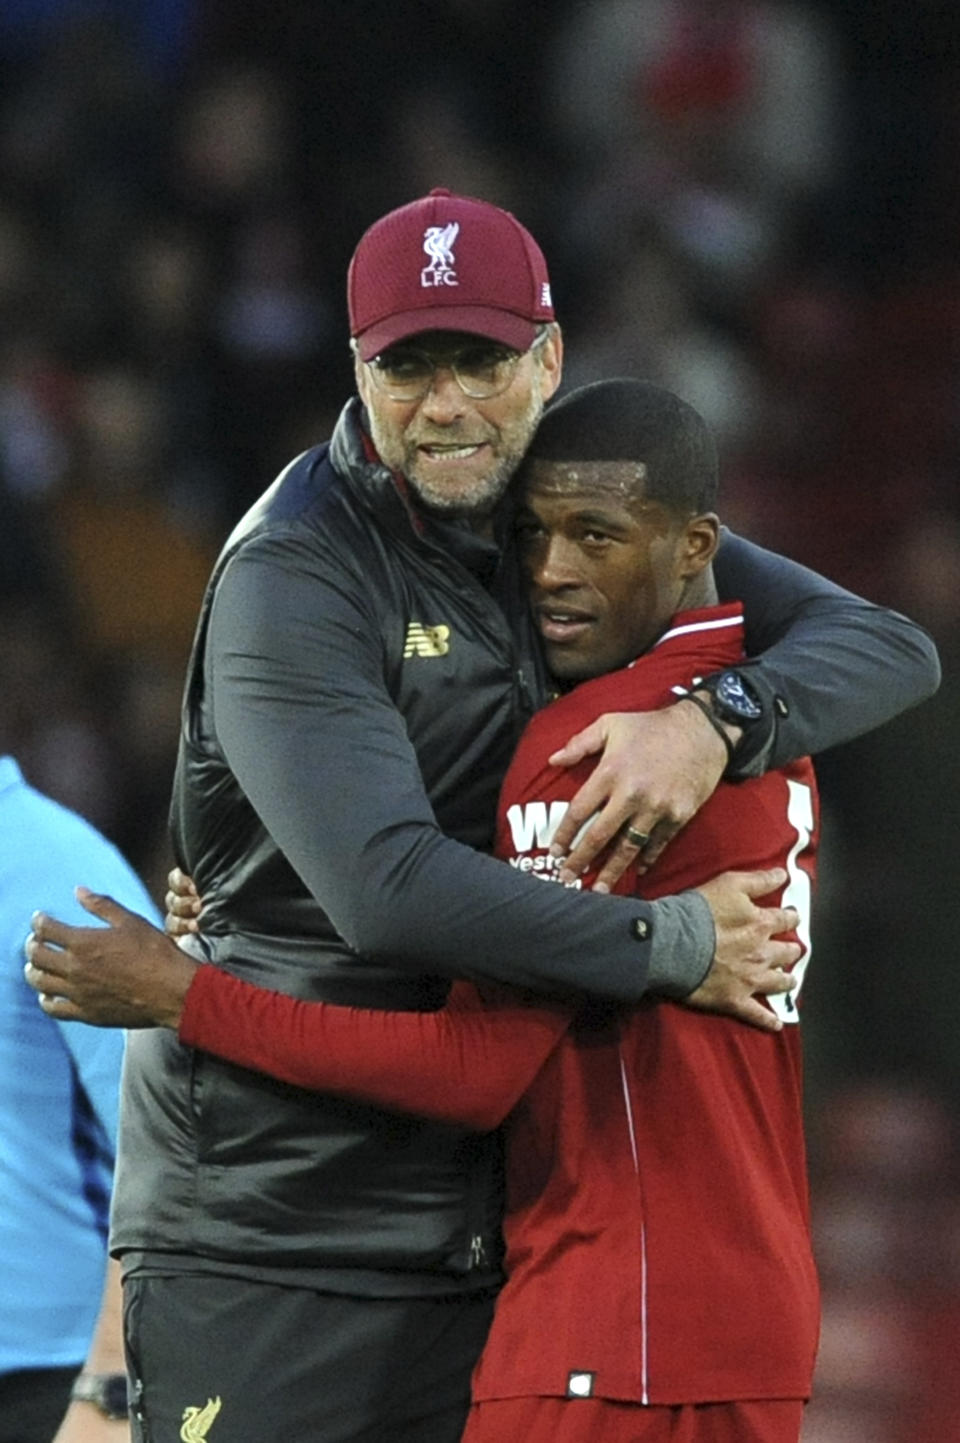
[[[492,1307],[131,1277],[134,1443],[458,1443]]]

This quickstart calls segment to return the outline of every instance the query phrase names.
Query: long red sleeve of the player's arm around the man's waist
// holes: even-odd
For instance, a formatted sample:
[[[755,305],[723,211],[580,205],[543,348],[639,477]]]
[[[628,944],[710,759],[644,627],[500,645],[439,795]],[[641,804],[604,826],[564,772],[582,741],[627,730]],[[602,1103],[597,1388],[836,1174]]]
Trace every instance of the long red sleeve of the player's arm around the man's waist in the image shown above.
[[[471,983],[455,983],[440,1012],[372,1012],[300,1001],[204,965],[179,1036],[294,1087],[491,1131],[569,1025],[567,1012],[518,999],[488,1006]]]

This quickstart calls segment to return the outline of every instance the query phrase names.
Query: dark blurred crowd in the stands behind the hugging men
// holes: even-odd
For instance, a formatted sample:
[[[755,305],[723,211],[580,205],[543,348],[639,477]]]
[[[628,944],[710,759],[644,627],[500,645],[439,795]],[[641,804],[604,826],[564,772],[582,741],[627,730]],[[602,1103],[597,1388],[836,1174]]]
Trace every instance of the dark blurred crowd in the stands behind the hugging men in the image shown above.
[[[157,899],[208,569],[433,185],[538,237],[567,385],[677,390],[725,519],[937,639],[938,697],[820,760],[804,1443],[960,1437],[959,153],[953,0],[0,6],[0,750]]]

